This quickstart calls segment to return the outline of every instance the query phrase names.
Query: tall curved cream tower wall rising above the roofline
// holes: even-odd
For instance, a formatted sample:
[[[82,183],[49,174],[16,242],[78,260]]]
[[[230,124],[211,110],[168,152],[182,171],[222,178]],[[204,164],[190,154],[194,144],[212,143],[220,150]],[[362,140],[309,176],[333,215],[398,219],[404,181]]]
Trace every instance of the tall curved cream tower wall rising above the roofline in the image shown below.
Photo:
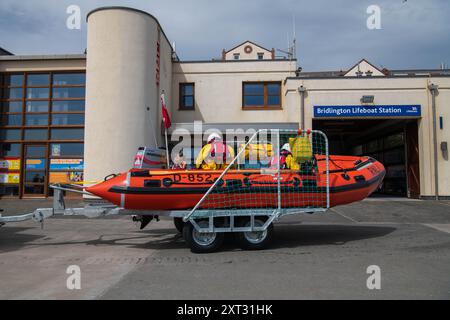
[[[159,24],[120,8],[88,16],[85,179],[128,170],[139,146],[161,144],[156,48]],[[170,45],[162,32],[161,84],[170,88]],[[169,89],[170,94],[170,89]],[[147,110],[149,108],[149,110]]]

